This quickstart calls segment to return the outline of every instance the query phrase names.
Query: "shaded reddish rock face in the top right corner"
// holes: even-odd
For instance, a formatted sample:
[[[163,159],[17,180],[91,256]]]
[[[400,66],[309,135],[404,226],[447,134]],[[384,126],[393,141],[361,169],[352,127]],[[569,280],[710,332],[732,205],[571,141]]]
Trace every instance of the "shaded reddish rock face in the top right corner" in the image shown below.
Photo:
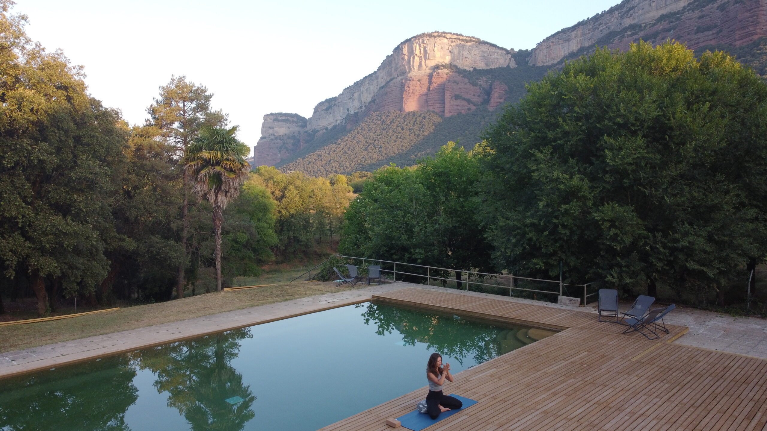
[[[690,6],[695,5],[691,3]],[[610,48],[625,50],[632,41],[662,43],[667,38],[682,41],[687,48],[708,44],[739,47],[767,36],[767,2],[765,0],[719,0],[698,10],[683,9],[678,17],[658,20],[637,35],[621,38]]]

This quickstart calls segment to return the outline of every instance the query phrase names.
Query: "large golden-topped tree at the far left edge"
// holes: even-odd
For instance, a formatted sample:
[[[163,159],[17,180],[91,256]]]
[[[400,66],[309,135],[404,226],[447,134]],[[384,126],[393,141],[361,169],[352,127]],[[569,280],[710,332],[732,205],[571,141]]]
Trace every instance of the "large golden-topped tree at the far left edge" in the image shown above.
[[[132,246],[110,213],[127,133],[80,67],[28,39],[12,4],[0,2],[0,259],[7,277],[28,275],[44,314],[48,290],[94,291],[105,252]]]

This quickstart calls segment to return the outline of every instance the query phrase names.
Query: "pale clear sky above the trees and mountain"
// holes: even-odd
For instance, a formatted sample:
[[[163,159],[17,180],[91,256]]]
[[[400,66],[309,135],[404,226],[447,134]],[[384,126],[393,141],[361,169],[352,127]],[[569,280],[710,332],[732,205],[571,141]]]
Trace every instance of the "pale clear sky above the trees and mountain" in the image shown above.
[[[264,114],[314,105],[375,71],[394,47],[451,31],[529,49],[619,0],[262,2],[16,0],[28,34],[82,64],[91,95],[132,124],[172,74],[216,94],[249,146]]]

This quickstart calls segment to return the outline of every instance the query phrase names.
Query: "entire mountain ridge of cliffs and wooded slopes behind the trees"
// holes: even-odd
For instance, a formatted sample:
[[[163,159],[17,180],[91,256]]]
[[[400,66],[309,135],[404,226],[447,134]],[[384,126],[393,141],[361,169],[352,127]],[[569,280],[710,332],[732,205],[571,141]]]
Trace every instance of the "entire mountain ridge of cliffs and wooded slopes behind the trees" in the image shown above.
[[[416,163],[448,140],[461,139],[470,148],[479,140],[479,130],[495,120],[499,107],[524,96],[525,83],[538,81],[550,68],[589,54],[597,45],[625,49],[640,38],[653,43],[676,39],[696,54],[711,48],[737,52],[744,64],[767,76],[764,0],[624,0],[555,32],[532,50],[515,51],[471,36],[432,31],[397,44],[376,71],[321,101],[311,117],[266,114],[262,137],[253,151],[254,165],[326,175],[351,173],[346,171],[351,169],[348,166],[374,169],[371,166],[395,161]],[[423,120],[423,124],[433,123],[431,132],[423,136],[419,131],[423,129],[413,129],[413,139],[404,139],[398,130],[382,129],[383,123],[375,120],[365,122],[376,113],[413,111],[433,113],[442,120],[426,116],[432,120]],[[392,124],[416,127],[417,122],[394,117],[397,120]],[[380,120],[380,116],[376,118]],[[377,126],[372,127],[373,123]],[[372,149],[370,143],[387,143],[360,133],[344,139],[360,125],[368,133],[376,130],[391,136],[397,151],[376,148],[370,154],[380,159],[368,163],[364,152],[350,150],[350,146],[359,143]],[[325,146],[332,147],[322,150]],[[322,156],[311,156],[317,151]],[[347,167],[342,169],[342,165]]]

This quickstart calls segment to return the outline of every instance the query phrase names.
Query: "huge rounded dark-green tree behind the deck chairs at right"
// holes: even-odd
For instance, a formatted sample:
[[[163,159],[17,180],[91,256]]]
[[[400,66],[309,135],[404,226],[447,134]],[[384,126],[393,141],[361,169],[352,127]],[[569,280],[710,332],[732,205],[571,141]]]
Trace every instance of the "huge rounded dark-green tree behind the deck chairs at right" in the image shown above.
[[[721,286],[765,256],[767,86],[684,45],[597,50],[486,131],[479,199],[500,268],[618,287]]]

